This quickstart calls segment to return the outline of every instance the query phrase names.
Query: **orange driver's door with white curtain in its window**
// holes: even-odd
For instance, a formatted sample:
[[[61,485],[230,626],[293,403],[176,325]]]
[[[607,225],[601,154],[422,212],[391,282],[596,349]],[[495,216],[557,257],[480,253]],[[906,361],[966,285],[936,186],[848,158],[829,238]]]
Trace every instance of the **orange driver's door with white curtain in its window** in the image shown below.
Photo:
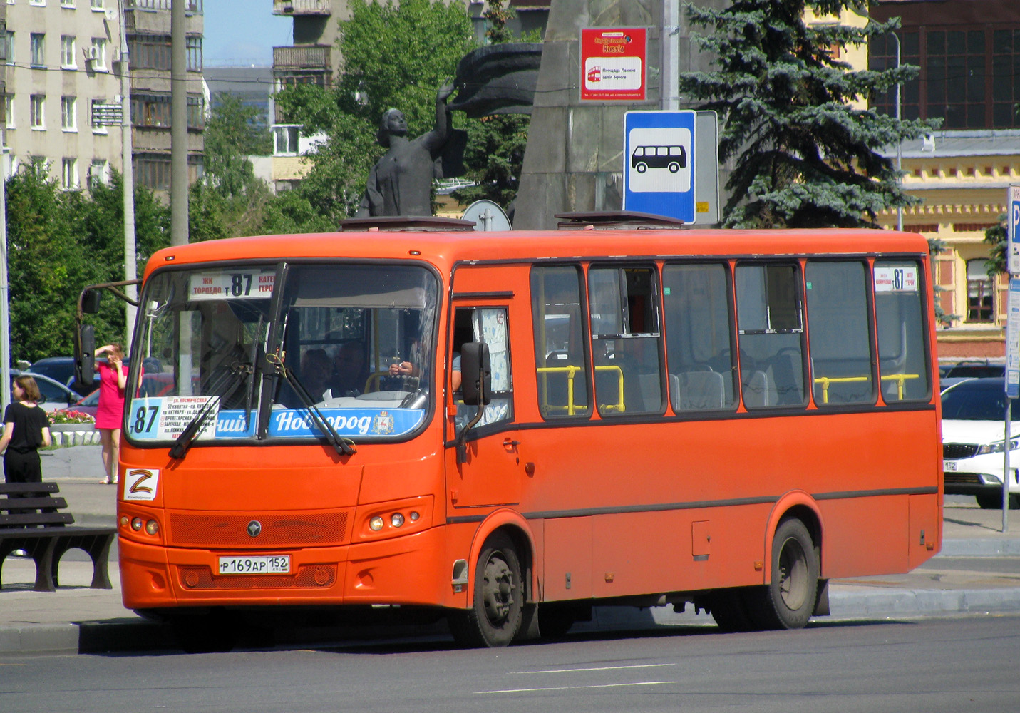
[[[503,304],[468,305],[454,296],[447,357],[447,488],[459,508],[512,505],[520,501],[524,477],[520,434],[514,425],[510,358],[512,296]],[[492,400],[473,425],[477,406],[465,406],[459,388],[460,350],[466,342],[489,346]],[[465,428],[467,430],[465,431]]]

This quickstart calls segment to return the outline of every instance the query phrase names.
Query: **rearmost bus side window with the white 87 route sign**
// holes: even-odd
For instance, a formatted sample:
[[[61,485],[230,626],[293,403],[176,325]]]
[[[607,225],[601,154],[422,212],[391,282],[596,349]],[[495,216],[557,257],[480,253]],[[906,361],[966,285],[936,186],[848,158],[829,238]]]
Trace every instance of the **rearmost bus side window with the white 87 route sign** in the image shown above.
[[[910,260],[875,260],[874,278],[882,398],[886,403],[927,401],[931,377],[920,265]]]

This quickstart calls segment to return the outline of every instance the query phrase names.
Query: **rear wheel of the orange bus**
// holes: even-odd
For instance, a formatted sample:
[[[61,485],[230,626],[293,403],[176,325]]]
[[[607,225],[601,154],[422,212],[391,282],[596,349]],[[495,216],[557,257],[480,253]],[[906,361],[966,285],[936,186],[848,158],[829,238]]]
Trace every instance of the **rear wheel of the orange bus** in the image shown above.
[[[749,591],[751,618],[762,629],[803,628],[814,614],[818,556],[803,522],[787,518],[772,539],[771,581]]]

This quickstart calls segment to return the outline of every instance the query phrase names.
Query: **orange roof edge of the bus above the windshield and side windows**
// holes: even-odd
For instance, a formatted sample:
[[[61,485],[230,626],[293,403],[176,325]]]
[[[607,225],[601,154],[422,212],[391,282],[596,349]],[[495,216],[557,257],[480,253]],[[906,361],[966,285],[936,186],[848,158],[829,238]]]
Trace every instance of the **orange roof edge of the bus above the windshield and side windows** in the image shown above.
[[[380,231],[231,238],[164,248],[150,258],[146,274],[166,264],[242,259],[418,259],[443,270],[459,261],[927,252],[927,241],[916,234],[868,228]]]

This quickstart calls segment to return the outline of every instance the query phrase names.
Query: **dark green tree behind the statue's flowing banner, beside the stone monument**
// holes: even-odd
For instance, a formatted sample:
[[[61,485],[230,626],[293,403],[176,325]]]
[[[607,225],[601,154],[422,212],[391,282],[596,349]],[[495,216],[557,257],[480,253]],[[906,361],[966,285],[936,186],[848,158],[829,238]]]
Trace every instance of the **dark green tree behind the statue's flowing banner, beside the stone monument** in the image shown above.
[[[489,23],[486,38],[490,44],[513,41],[507,23],[517,13],[505,6],[504,0],[490,0],[482,14]],[[454,198],[462,203],[486,198],[501,206],[509,206],[517,196],[530,121],[531,117],[526,114],[496,114],[469,119],[464,164],[467,179],[474,186],[455,191]]]

